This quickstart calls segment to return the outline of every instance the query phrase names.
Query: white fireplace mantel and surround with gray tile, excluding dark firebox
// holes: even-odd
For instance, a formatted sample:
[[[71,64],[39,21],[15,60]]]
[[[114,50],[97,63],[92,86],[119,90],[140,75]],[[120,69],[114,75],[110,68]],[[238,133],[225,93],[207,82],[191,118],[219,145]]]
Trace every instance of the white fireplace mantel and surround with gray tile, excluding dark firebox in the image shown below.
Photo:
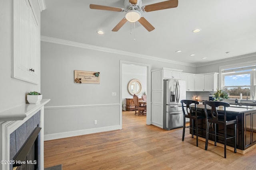
[[[42,128],[36,135],[37,144],[32,144],[38,148],[38,153],[34,154],[32,150],[29,152],[38,155],[36,158],[38,170],[44,169],[44,105],[49,101],[50,99],[42,99],[37,104],[23,104],[0,112],[0,160],[6,161],[0,164],[0,170],[12,170],[13,164],[10,164],[10,161],[15,163],[16,154],[20,152],[36,127]],[[32,159],[28,158],[28,160]]]

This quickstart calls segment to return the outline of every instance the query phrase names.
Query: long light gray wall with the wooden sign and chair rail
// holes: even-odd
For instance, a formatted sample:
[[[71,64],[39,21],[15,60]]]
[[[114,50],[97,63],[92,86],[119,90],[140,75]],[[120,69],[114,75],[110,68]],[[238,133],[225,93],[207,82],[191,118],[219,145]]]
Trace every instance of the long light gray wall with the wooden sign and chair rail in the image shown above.
[[[45,140],[122,128],[120,60],[196,72],[193,66],[41,41],[41,92],[51,99],[44,111]],[[74,83],[74,70],[100,72],[100,84]]]

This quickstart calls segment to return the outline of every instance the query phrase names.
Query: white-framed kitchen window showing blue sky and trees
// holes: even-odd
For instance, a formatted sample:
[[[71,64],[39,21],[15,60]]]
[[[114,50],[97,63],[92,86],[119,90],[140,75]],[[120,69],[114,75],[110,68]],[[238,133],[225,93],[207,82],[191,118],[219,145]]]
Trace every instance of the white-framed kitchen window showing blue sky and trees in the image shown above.
[[[255,100],[256,65],[222,68],[222,89],[229,93],[230,99]]]

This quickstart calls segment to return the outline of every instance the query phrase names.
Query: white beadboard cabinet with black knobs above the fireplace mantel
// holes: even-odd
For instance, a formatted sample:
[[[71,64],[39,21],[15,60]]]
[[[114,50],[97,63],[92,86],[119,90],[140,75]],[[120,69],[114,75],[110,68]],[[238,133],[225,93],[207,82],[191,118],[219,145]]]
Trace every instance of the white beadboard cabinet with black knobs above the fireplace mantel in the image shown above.
[[[28,0],[13,0],[12,77],[39,83],[39,24]]]

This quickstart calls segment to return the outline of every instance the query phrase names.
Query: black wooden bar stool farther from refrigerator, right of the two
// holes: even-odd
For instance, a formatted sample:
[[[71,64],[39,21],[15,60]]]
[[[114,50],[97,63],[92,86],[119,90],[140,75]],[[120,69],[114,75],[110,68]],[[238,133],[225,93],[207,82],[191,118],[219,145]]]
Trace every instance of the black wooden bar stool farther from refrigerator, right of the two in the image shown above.
[[[227,118],[226,117],[226,107],[229,107],[230,104],[226,102],[214,102],[214,101],[205,101],[204,104],[204,112],[206,116],[206,141],[205,141],[205,149],[207,150],[208,147],[208,139],[209,134],[214,135],[214,146],[217,146],[216,137],[224,138],[224,158],[226,158],[226,144],[227,139],[234,138],[234,152],[236,153],[236,119],[234,118]],[[210,106],[210,111],[207,110],[207,106]],[[217,111],[217,107],[218,111]],[[220,108],[221,107],[221,108]],[[222,125],[224,129],[216,129],[216,124]],[[227,135],[227,125],[234,124],[234,134]],[[210,128],[214,129],[214,133],[210,133]],[[217,131],[218,130],[218,131]],[[223,131],[220,133],[220,131]]]

